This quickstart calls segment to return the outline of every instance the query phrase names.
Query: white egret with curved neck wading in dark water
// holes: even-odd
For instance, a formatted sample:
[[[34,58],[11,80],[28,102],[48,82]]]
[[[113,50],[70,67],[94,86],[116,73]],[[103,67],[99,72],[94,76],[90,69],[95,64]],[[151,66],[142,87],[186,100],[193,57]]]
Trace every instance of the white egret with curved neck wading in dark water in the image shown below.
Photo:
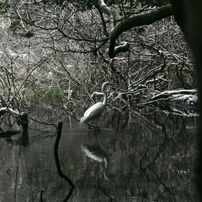
[[[104,95],[104,100],[103,102],[98,102],[88,108],[86,112],[84,113],[83,117],[80,119],[81,123],[88,123],[89,121],[92,121],[94,119],[97,119],[100,117],[102,112],[104,111],[106,105],[107,105],[107,93],[105,91],[106,87],[108,85],[111,85],[109,82],[105,82],[102,84],[102,93]],[[99,130],[98,127],[95,127]]]

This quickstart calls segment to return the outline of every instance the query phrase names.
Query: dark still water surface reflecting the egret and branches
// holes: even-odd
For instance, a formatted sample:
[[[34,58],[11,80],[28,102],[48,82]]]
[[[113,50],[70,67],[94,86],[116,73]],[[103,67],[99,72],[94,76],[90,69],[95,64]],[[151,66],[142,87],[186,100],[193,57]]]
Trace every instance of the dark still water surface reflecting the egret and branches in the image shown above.
[[[196,117],[109,112],[103,120],[115,129],[95,134],[63,122],[60,164],[75,185],[69,201],[196,201]],[[63,201],[70,186],[57,173],[51,130],[29,130],[27,146],[0,139],[0,202],[37,202],[41,190],[43,201]]]

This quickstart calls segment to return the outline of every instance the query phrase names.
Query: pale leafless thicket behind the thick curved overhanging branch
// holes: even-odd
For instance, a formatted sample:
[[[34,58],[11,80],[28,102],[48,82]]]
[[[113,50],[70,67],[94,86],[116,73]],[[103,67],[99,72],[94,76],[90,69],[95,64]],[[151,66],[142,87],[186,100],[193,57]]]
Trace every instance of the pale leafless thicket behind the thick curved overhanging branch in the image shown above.
[[[124,18],[113,9],[118,21]],[[79,103],[106,80],[126,91],[140,84],[151,91],[195,87],[191,53],[172,17],[123,33],[120,40],[130,49],[111,59],[102,21],[108,18],[97,9],[79,12],[72,4],[24,1],[12,4],[8,17],[12,32],[1,29],[0,82],[9,102],[18,98],[28,105],[55,95]]]

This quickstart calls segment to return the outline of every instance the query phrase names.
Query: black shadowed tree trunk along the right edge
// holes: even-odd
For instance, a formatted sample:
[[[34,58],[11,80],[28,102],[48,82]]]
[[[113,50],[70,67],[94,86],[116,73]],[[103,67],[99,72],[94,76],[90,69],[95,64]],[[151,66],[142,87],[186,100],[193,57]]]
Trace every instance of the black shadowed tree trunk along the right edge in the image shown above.
[[[172,0],[174,17],[191,47],[197,75],[199,90],[199,112],[202,115],[202,1]],[[180,44],[179,44],[180,45]],[[198,156],[196,160],[196,190],[202,202],[202,117],[198,123],[197,137]]]

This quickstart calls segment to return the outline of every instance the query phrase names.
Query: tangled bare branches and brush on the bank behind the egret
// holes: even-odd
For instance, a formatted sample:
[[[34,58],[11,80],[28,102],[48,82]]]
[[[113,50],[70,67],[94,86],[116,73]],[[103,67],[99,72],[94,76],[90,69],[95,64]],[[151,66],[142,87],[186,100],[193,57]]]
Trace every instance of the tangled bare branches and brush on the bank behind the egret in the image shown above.
[[[169,3],[2,2],[2,107],[89,105],[104,81],[118,85],[111,96],[118,95],[118,108],[196,88],[193,57]]]

